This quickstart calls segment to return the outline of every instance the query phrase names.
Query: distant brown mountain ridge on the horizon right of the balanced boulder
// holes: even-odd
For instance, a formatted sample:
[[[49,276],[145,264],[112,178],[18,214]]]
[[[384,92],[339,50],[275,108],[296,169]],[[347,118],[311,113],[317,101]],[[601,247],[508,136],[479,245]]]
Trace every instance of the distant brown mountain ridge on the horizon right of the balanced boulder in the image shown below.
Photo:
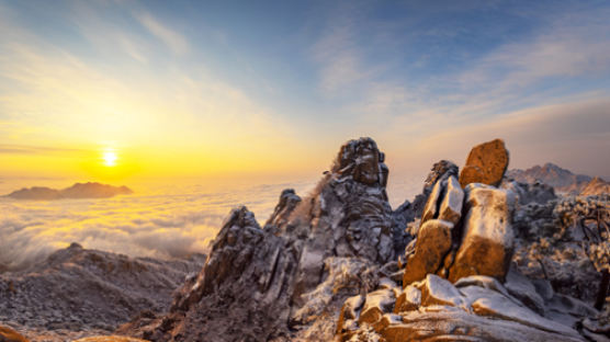
[[[535,166],[527,170],[509,170],[506,176],[522,183],[542,182],[553,186],[557,192],[571,194],[579,194],[592,180],[588,175],[574,174],[569,170],[562,169],[550,162],[542,167]]]

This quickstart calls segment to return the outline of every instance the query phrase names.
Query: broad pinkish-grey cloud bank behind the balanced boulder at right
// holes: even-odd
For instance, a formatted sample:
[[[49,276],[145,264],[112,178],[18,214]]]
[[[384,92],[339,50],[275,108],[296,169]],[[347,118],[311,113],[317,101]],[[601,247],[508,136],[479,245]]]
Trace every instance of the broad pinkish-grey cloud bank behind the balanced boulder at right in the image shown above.
[[[388,160],[394,159],[391,162],[394,169],[410,169],[423,175],[427,167],[440,159],[461,166],[472,146],[502,138],[510,150],[509,168],[529,168],[551,161],[577,173],[608,176],[609,109],[608,96],[599,94],[528,107],[417,137],[388,151]],[[402,158],[396,161],[392,156]]]

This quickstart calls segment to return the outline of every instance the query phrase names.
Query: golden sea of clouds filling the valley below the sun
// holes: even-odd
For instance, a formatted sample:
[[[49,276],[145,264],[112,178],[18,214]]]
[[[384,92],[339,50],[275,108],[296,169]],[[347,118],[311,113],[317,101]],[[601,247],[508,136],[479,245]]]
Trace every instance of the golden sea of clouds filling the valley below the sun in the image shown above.
[[[132,256],[168,259],[205,252],[231,208],[246,205],[263,225],[283,189],[293,187],[304,196],[315,183],[156,184],[133,186],[133,195],[101,200],[0,197],[0,266],[23,269],[71,242]],[[10,185],[4,182],[0,189]],[[392,206],[413,198],[419,186],[394,184],[396,191],[388,189]]]

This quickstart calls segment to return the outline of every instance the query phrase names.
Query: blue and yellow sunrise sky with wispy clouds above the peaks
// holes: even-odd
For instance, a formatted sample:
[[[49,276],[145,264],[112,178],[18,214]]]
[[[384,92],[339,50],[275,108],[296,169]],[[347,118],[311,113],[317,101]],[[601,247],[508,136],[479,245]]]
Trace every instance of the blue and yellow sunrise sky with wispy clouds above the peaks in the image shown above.
[[[0,181],[394,179],[504,138],[610,176],[608,1],[0,0]],[[66,184],[66,186],[69,184]]]

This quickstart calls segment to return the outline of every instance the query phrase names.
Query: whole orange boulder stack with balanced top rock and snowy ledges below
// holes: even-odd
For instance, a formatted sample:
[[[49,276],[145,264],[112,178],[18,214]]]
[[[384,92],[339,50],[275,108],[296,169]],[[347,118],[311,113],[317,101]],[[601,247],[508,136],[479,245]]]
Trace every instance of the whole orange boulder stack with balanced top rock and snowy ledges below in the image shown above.
[[[465,189],[454,176],[437,182],[407,248],[403,282],[385,278],[375,290],[347,299],[339,340],[607,340],[610,326],[589,304],[509,266],[522,238],[513,230],[515,213],[554,195],[552,189],[544,194],[547,187],[530,194],[530,186],[516,182],[483,185],[501,180],[508,161],[502,148],[497,140],[473,148],[465,170],[474,153],[477,169],[489,172],[463,172]],[[494,170],[502,171],[498,176]]]

